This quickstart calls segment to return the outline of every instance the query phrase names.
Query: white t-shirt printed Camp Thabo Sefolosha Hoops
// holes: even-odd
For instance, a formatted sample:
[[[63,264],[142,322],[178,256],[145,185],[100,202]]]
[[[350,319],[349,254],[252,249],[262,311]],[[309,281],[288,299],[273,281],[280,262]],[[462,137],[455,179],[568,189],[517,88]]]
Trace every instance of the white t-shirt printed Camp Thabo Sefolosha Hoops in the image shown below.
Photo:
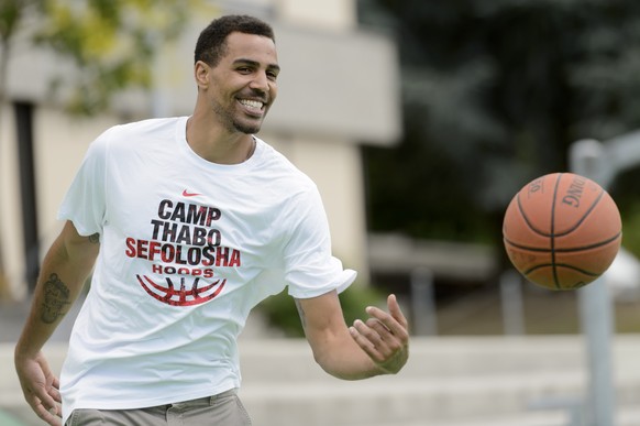
[[[100,233],[91,288],[62,372],[75,408],[125,409],[240,386],[236,338],[250,310],[342,291],[316,185],[256,139],[246,162],[207,162],[187,118],[117,125],[89,148],[59,209]]]

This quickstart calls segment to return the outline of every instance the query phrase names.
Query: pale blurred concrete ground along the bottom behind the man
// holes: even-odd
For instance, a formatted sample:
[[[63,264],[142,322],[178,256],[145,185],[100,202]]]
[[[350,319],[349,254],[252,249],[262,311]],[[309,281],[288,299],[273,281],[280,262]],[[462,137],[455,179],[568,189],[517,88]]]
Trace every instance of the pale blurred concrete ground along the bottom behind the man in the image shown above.
[[[0,425],[35,426],[13,370],[13,345],[29,308],[0,306]],[[75,312],[45,353],[66,353]],[[252,317],[241,338],[241,397],[256,426],[583,426],[589,378],[580,335],[413,338],[396,376],[328,376],[301,339],[264,338]],[[615,426],[640,425],[640,335],[611,345]]]

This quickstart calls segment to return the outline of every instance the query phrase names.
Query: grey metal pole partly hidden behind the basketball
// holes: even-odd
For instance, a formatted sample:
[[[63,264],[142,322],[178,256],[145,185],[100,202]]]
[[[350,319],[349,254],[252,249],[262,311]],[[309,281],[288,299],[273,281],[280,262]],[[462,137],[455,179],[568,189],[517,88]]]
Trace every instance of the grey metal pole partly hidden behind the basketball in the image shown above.
[[[594,140],[578,141],[570,151],[574,173],[589,177],[606,189],[608,176],[604,176],[604,149]],[[602,178],[600,178],[602,177]],[[578,291],[583,332],[587,343],[589,371],[586,395],[586,422],[588,426],[615,425],[615,386],[613,383],[611,336],[614,334],[614,307],[603,277]]]

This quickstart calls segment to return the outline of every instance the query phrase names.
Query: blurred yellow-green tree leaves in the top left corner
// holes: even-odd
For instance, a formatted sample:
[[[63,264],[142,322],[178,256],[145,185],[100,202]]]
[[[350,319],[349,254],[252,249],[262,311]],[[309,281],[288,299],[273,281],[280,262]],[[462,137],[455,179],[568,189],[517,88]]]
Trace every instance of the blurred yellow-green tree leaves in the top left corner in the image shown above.
[[[198,12],[217,11],[203,0],[0,0],[0,119],[18,50],[51,48],[75,65],[77,73],[51,81],[51,95],[74,113],[95,114],[119,91],[148,90],[154,53]],[[8,296],[1,249],[0,298]]]

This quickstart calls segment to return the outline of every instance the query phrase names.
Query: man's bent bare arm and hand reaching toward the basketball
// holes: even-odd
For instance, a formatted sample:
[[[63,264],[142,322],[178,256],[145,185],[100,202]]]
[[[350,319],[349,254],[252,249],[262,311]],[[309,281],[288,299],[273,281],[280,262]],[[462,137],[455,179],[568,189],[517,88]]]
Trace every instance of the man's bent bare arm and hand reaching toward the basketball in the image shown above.
[[[409,357],[409,331],[394,295],[388,312],[369,306],[369,318],[347,327],[335,291],[297,298],[296,306],[316,362],[340,379],[358,380],[395,374]]]

